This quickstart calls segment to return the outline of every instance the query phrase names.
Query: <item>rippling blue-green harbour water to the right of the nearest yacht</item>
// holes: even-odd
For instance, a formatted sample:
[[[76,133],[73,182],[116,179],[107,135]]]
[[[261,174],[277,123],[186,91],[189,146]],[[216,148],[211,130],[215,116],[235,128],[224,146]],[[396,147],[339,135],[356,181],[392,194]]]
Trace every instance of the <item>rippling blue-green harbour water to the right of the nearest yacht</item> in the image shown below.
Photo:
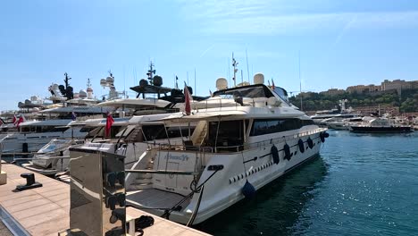
[[[214,235],[418,235],[418,133],[330,131],[319,158],[196,228]]]

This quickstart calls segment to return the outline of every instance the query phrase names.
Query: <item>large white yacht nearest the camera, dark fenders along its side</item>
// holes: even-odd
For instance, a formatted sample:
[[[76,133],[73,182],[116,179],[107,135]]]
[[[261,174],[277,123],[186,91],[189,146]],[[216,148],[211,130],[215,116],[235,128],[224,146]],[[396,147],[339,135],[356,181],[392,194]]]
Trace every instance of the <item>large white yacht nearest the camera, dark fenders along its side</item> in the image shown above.
[[[161,119],[166,126],[196,122],[196,129],[180,145],[150,148],[126,171],[127,204],[201,223],[318,156],[326,129],[291,105],[284,89],[263,85],[263,74],[254,79],[232,89],[219,79],[211,102]]]

